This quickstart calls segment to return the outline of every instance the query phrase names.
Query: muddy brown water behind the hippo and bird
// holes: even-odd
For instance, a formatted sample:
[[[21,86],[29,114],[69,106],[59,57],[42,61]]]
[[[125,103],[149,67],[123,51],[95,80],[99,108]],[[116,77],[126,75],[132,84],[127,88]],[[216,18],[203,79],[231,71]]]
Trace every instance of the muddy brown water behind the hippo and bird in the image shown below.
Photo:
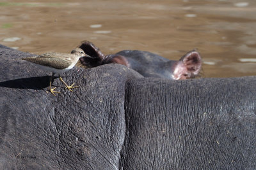
[[[204,77],[256,75],[256,1],[1,1],[0,43],[23,52],[145,50],[177,60],[196,48]]]

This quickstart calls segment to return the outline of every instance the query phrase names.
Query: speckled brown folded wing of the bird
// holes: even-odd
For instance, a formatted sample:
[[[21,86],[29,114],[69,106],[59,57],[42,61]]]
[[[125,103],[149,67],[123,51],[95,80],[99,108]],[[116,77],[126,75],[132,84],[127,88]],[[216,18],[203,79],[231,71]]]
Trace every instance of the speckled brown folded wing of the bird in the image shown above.
[[[25,58],[25,60],[55,69],[65,69],[72,64],[69,57],[60,57],[60,54],[58,55],[56,53],[45,53],[36,57]]]

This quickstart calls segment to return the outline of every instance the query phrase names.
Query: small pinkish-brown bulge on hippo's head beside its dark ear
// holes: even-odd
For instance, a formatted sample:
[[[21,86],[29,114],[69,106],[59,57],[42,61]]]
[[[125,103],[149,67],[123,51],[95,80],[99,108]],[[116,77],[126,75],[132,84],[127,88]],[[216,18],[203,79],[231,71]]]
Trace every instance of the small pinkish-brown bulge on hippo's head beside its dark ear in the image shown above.
[[[110,54],[104,57],[103,64],[116,63],[130,67],[128,60],[123,55]]]

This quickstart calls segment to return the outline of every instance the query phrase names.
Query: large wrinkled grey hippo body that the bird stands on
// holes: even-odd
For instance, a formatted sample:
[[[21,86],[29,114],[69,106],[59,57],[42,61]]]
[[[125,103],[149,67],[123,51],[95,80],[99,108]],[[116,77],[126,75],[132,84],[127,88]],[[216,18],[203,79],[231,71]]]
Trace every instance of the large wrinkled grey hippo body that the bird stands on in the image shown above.
[[[256,169],[256,76],[167,80],[121,64],[51,73],[0,45],[0,169]],[[55,77],[56,78],[56,77]]]

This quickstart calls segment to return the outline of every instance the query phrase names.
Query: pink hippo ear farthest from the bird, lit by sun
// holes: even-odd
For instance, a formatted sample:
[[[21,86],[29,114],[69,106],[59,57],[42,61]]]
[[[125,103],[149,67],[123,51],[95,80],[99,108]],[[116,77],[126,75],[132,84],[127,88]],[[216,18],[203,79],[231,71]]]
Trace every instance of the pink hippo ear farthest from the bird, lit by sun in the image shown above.
[[[173,67],[173,79],[184,80],[194,78],[200,72],[201,66],[200,54],[196,51],[188,52]]]

